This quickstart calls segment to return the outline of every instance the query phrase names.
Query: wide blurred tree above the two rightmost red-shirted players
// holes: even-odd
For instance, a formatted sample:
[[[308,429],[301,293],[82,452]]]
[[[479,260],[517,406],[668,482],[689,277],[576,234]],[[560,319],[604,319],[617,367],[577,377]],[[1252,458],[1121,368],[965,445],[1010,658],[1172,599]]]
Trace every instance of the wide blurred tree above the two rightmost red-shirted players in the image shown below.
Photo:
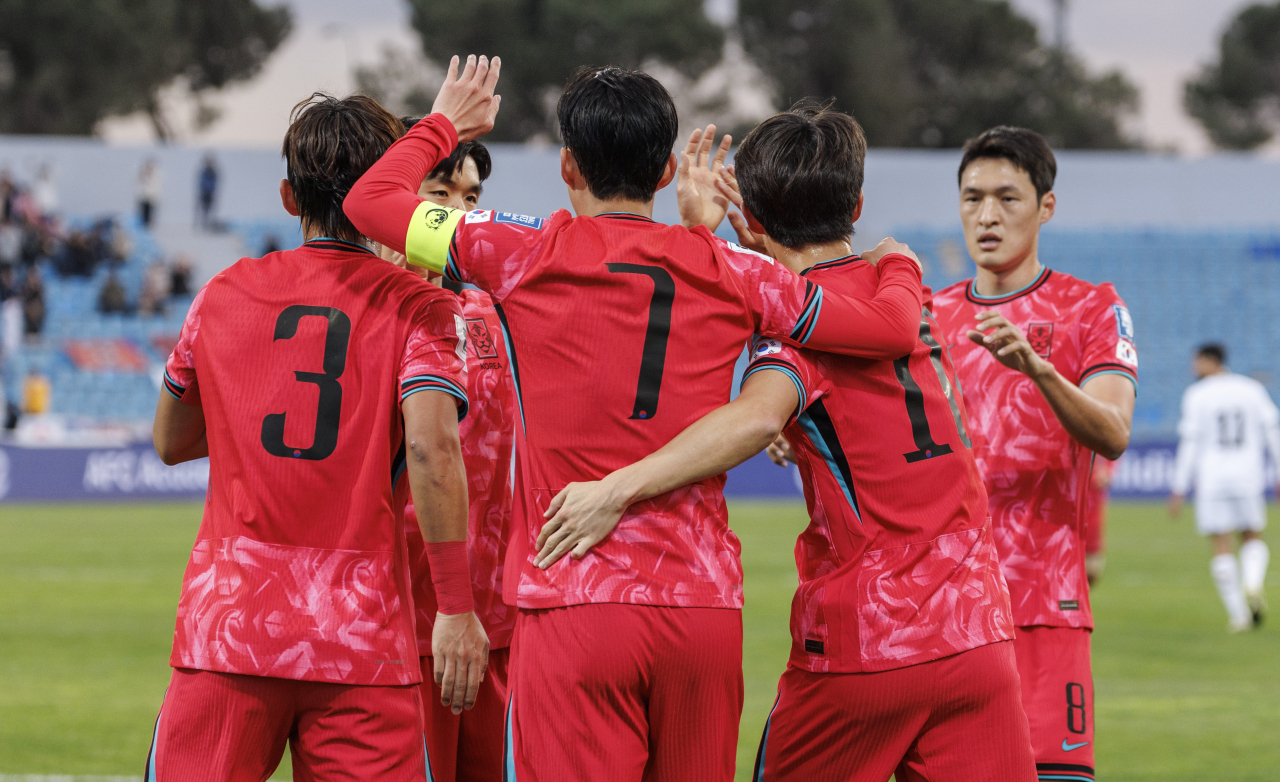
[[[872,146],[957,147],[998,124],[1061,148],[1135,146],[1138,93],[1039,42],[1007,0],[740,0],[748,52],[777,105],[836,99]]]

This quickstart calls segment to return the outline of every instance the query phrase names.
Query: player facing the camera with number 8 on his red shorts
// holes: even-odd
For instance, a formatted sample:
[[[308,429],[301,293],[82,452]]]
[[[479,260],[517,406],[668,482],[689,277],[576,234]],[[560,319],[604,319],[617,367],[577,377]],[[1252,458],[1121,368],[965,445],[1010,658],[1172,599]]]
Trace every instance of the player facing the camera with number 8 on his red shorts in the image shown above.
[[[933,301],[987,481],[1037,768],[1082,781],[1093,778],[1085,497],[1094,454],[1115,461],[1129,445],[1138,352],[1111,284],[1039,262],[1056,173],[1032,131],[965,145],[960,219],[977,274]]]

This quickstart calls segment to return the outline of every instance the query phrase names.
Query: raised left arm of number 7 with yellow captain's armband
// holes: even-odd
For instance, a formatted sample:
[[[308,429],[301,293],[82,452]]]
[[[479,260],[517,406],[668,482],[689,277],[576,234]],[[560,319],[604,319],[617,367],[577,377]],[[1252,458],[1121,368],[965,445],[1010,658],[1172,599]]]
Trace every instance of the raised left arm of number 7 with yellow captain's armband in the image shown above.
[[[431,114],[392,145],[356,182],[343,201],[343,211],[360,233],[404,253],[417,212],[435,209],[444,218],[430,228],[439,235],[452,234],[462,212],[425,202],[417,195],[417,188],[460,141],[470,141],[493,129],[502,100],[494,95],[500,67],[498,58],[490,63],[485,56],[476,59],[471,55],[460,76],[458,58],[453,58]],[[425,219],[424,215],[417,216]],[[444,248],[447,247],[448,238],[444,239]],[[415,260],[410,259],[411,262]],[[439,267],[424,262],[417,265],[440,271],[444,260],[439,261]]]

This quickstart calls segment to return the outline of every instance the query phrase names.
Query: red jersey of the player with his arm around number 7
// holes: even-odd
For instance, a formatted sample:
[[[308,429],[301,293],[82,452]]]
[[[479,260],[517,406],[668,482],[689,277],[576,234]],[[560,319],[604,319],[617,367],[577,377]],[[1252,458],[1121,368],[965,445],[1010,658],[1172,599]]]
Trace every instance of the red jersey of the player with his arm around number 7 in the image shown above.
[[[876,267],[856,257],[805,276],[876,289]],[[780,371],[801,399],[786,436],[810,520],[791,603],[791,664],[805,671],[887,671],[1012,639],[987,493],[929,305],[915,347],[893,361],[753,343],[746,378]]]

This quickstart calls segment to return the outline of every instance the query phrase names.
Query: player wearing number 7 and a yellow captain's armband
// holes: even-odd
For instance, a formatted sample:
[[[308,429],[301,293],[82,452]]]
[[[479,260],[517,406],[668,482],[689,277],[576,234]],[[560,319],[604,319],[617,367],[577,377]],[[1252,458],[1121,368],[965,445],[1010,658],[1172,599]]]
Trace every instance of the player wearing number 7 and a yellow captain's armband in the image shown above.
[[[394,250],[407,246],[410,262],[490,293],[504,326],[521,421],[503,580],[520,608],[508,777],[730,779],[742,593],[723,476],[637,504],[595,550],[545,571],[532,558],[543,512],[568,483],[653,452],[727,402],[751,333],[873,355],[910,349],[919,270],[887,253],[873,299],[823,296],[705,228],[654,223],[654,192],[676,175],[677,118],[649,76],[585,69],[559,120],[577,216],[422,203],[417,183],[454,143],[436,115],[361,178],[347,214]],[[714,211],[722,198],[699,187],[689,159],[681,200]]]

